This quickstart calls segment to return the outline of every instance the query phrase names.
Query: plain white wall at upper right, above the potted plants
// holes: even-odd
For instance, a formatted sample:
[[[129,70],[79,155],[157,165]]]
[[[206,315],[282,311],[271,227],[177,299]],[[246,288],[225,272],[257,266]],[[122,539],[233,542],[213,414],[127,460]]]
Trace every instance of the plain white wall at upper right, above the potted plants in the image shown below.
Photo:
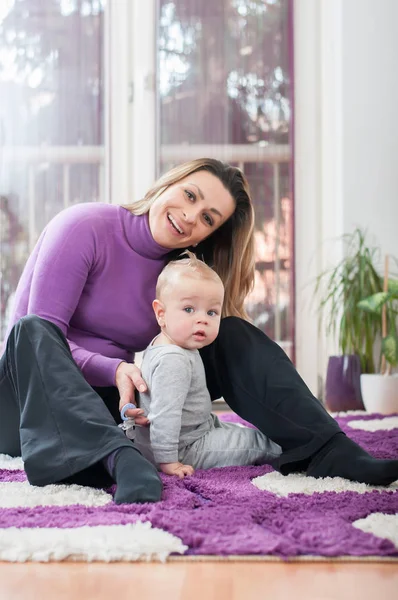
[[[398,2],[346,0],[342,24],[344,229],[398,257]]]

